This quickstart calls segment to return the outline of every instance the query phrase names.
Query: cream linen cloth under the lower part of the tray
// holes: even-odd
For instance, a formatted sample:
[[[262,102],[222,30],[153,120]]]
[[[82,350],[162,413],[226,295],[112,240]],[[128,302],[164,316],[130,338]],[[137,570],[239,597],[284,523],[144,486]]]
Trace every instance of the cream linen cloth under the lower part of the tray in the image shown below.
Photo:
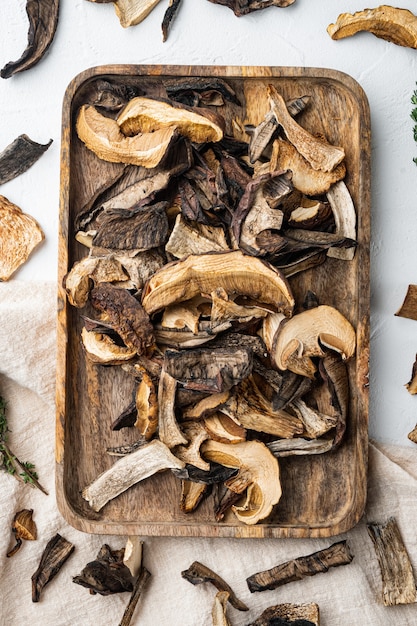
[[[91,595],[72,582],[100,547],[125,545],[127,537],[90,535],[62,518],[55,501],[56,285],[23,281],[0,283],[0,394],[8,403],[9,443],[23,461],[36,465],[46,496],[0,472],[0,625],[111,626],[119,624],[130,594]],[[34,510],[36,541],[25,541],[12,558],[14,514]],[[198,560],[222,576],[249,607],[228,607],[232,626],[245,626],[268,606],[316,602],[321,626],[414,626],[417,605],[384,607],[378,561],[366,522],[397,519],[417,571],[417,448],[369,445],[368,501],[363,519],[343,536],[329,539],[204,539],[143,537],[144,564],[152,578],[134,613],[141,626],[210,626],[216,593],[212,585],[193,586],[181,571]],[[75,551],[47,585],[40,602],[31,600],[31,576],[47,542],[60,533]],[[246,578],[288,559],[311,554],[347,539],[351,564],[251,594]]]

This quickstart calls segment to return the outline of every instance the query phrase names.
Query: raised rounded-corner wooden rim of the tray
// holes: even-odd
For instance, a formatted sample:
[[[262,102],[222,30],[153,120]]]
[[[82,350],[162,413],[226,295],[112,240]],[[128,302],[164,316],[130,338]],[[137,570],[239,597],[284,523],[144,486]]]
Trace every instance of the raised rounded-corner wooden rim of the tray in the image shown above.
[[[212,525],[204,523],[205,532],[198,532],[201,523],[158,522],[113,522],[85,519],[79,515],[65,498],[64,459],[65,459],[65,382],[68,345],[67,312],[68,303],[62,279],[68,271],[68,209],[69,209],[69,155],[71,148],[71,104],[80,87],[98,76],[222,76],[224,78],[300,78],[311,80],[329,79],[339,82],[343,89],[348,89],[355,98],[360,111],[361,166],[359,168],[358,196],[363,208],[367,210],[367,228],[361,231],[363,237],[364,263],[358,267],[358,282],[361,302],[358,304],[357,337],[361,338],[361,352],[356,355],[356,381],[360,390],[360,404],[364,410],[361,434],[355,433],[355,456],[362,465],[355,465],[355,484],[364,484],[365,488],[355,499],[355,507],[337,522],[320,526],[313,525],[267,525],[235,526],[227,524]],[[61,125],[61,169],[59,199],[59,241],[58,241],[58,290],[57,290],[57,374],[56,374],[56,423],[55,423],[55,486],[58,510],[64,519],[77,530],[94,534],[140,534],[148,536],[182,537],[224,537],[224,538],[283,538],[283,537],[331,537],[353,528],[361,519],[366,504],[366,481],[368,467],[368,420],[369,420],[369,338],[370,338],[370,110],[367,96],[361,85],[349,74],[330,68],[301,66],[238,66],[238,65],[166,65],[166,64],[110,64],[97,65],[77,74],[68,84],[62,106]],[[368,185],[366,184],[368,182]],[[364,306],[365,303],[365,306]],[[363,310],[365,309],[365,310]],[[359,410],[359,407],[358,407]],[[353,444],[352,444],[353,445]],[[167,532],[169,529],[169,532]]]

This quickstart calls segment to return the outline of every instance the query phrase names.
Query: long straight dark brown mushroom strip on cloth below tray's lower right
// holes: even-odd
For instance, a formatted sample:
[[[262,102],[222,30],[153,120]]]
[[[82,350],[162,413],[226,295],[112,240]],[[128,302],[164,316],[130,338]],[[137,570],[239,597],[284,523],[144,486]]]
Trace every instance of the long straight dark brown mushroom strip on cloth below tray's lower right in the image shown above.
[[[306,576],[315,576],[327,572],[331,567],[349,565],[353,555],[347,541],[338,541],[324,550],[313,552],[291,561],[281,563],[264,572],[258,572],[246,579],[249,591],[266,591],[277,589],[281,585],[302,580]]]

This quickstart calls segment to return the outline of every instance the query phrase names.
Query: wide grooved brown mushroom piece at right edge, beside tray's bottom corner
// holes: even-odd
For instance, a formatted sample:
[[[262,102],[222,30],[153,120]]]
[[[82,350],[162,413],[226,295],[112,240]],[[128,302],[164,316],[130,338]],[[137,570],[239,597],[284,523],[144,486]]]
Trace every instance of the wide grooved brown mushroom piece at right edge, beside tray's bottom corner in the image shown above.
[[[414,604],[417,601],[416,583],[410,557],[394,517],[385,524],[367,524],[374,544],[382,575],[384,606]]]

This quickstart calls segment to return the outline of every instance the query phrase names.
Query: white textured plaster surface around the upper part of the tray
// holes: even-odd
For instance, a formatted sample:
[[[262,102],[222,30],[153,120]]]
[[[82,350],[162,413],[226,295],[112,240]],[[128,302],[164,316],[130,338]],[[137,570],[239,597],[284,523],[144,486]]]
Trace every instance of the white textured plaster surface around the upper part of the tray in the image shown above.
[[[237,18],[207,0],[183,0],[167,42],[161,21],[168,0],[123,29],[112,4],[61,0],[58,29],[32,69],[0,79],[0,151],[18,135],[53,144],[1,193],[35,217],[46,240],[16,274],[21,281],[55,281],[61,108],[71,79],[112,64],[283,65],[328,67],[350,74],[367,94],[372,121],[370,436],[412,446],[417,398],[404,388],[417,352],[417,322],[395,317],[407,286],[417,283],[417,156],[410,98],[417,51],[368,33],[333,41],[326,27],[339,13],[377,6],[363,0],[296,0]],[[0,0],[0,66],[26,47],[26,0]],[[417,13],[415,0],[401,6]]]

